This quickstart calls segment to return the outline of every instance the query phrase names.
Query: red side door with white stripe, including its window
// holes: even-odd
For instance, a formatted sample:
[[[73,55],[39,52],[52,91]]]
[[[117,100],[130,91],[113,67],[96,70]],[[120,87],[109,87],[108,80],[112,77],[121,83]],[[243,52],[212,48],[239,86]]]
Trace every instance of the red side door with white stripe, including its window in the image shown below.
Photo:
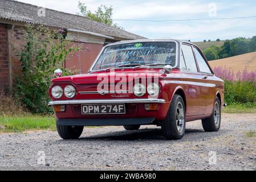
[[[198,71],[193,47],[190,44],[182,44],[181,49],[181,60],[184,59],[185,62],[185,68],[181,68],[181,72],[186,78],[186,116],[204,115],[205,107],[208,106],[208,93],[202,87],[202,75]]]

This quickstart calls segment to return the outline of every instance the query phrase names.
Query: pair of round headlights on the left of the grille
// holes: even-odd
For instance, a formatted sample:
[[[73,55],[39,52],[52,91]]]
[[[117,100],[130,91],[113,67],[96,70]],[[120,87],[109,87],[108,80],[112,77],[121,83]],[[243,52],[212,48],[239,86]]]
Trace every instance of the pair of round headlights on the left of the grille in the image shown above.
[[[64,95],[67,97],[67,98],[73,98],[76,94],[76,89],[74,88],[74,86],[72,85],[67,85],[65,88],[64,88]],[[52,97],[54,98],[60,98],[63,96],[63,89],[61,88],[61,86],[54,86],[52,87],[51,89],[51,95]]]

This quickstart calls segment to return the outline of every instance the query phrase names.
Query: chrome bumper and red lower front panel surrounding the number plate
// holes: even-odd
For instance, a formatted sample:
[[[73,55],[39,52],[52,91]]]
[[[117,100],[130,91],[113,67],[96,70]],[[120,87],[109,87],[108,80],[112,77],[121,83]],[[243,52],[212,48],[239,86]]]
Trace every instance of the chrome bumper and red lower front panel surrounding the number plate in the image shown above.
[[[145,109],[145,104],[158,104],[159,108],[157,110],[148,111]],[[126,113],[125,114],[92,114],[92,115],[84,115],[82,114],[82,107],[83,104],[125,104]],[[64,105],[65,111],[56,111],[55,117],[56,119],[64,119],[62,121],[67,121],[66,119],[70,119],[68,121],[79,121],[76,119],[80,119],[80,121],[88,121],[92,122],[91,124],[84,125],[84,126],[101,126],[101,122],[98,123],[95,119],[100,119],[100,121],[108,122],[105,119],[115,119],[113,125],[119,125],[117,119],[121,121],[123,124],[123,119],[127,119],[127,125],[133,119],[136,122],[132,122],[133,124],[141,124],[146,125],[147,123],[151,123],[147,121],[139,121],[141,118],[155,118],[155,121],[162,121],[166,114],[168,113],[170,102],[166,102],[163,99],[159,98],[138,98],[138,99],[105,99],[105,100],[64,100],[64,101],[51,101],[48,103],[49,106],[54,105]],[[125,121],[125,122],[126,122]],[[142,123],[140,123],[142,122]],[[109,124],[110,125],[110,124]]]

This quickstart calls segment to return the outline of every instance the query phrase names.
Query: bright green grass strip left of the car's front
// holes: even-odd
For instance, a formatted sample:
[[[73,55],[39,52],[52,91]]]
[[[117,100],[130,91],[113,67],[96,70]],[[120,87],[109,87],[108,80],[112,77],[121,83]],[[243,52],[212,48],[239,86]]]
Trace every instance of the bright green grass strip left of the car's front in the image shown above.
[[[53,116],[0,115],[0,133],[21,133],[27,130],[56,130]]]

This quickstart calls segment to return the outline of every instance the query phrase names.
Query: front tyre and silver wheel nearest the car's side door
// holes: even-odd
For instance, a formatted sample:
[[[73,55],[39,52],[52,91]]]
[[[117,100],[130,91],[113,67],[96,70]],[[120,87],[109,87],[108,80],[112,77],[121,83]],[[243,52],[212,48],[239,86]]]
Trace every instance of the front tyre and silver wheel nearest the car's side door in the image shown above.
[[[161,130],[166,139],[181,139],[186,129],[185,104],[180,95],[174,94],[168,114],[161,122]]]

